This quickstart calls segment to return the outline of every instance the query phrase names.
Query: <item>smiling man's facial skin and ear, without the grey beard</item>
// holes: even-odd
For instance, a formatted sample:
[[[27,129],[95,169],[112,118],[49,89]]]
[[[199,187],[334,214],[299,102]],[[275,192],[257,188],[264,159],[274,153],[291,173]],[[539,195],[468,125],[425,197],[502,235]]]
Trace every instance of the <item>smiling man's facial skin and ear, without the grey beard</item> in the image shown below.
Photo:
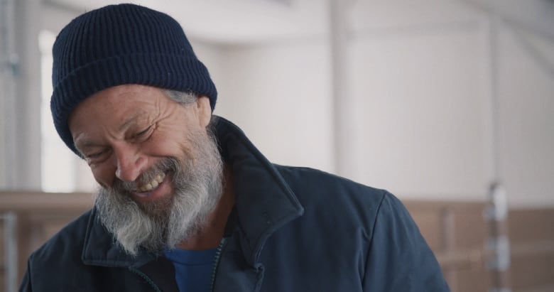
[[[190,150],[188,134],[210,122],[209,107],[205,97],[184,107],[155,87],[121,85],[85,99],[72,112],[69,125],[94,178],[109,187],[116,179],[136,181],[161,158],[184,158]],[[156,188],[137,185],[134,200],[148,202],[172,193],[167,182],[165,177]]]

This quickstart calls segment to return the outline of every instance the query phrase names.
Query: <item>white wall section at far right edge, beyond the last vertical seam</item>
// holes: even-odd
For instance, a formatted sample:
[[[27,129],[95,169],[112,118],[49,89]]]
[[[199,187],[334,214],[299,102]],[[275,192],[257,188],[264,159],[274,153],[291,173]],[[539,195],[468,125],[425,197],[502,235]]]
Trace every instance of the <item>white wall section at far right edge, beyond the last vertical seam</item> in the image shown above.
[[[554,205],[554,39],[505,27],[499,42],[501,177],[513,205]]]

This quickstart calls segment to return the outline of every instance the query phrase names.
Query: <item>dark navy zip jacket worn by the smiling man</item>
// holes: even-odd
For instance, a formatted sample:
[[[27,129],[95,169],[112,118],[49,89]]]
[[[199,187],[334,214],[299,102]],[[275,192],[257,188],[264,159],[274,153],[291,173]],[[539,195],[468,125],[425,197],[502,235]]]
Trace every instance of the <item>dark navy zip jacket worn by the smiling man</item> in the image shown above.
[[[270,163],[217,119],[236,205],[206,291],[449,291],[402,203],[310,168]],[[28,259],[21,291],[178,291],[165,257],[126,255],[93,209]]]

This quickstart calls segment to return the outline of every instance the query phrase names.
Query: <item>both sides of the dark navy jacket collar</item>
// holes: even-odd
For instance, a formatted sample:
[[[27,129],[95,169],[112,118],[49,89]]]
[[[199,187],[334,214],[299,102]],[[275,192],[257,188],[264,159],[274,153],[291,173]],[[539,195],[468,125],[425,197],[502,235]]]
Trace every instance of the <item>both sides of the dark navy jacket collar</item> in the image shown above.
[[[266,239],[287,222],[303,215],[303,207],[285,180],[239,127],[214,116],[222,158],[232,166],[236,193],[241,249],[246,261],[254,266]],[[141,266],[156,258],[155,254],[126,254],[92,211],[82,260],[98,266]]]

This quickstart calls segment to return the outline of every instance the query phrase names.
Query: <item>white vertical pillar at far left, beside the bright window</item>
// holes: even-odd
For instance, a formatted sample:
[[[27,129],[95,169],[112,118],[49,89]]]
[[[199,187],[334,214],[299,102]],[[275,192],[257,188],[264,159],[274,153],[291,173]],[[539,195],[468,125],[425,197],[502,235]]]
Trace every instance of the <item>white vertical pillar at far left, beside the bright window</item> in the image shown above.
[[[15,78],[13,141],[15,155],[10,161],[11,188],[40,190],[40,32],[41,1],[13,1]]]

